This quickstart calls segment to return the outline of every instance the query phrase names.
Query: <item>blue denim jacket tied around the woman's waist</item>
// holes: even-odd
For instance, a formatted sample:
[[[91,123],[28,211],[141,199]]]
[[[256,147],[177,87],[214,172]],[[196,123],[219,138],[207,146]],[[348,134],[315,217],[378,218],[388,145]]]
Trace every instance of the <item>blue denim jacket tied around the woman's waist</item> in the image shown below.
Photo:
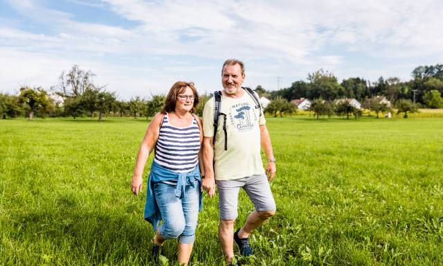
[[[161,221],[161,213],[159,210],[159,206],[157,206],[157,202],[154,194],[154,184],[162,181],[177,181],[177,188],[175,189],[175,197],[181,199],[182,197],[186,197],[186,183],[189,181],[192,187],[195,186],[195,180],[198,181],[199,187],[201,187],[201,178],[200,178],[200,168],[199,165],[194,168],[194,170],[190,172],[172,172],[171,170],[165,169],[152,161],[150,175],[147,178],[147,189],[146,189],[146,204],[145,204],[145,220],[152,224],[154,227],[154,231],[157,230]],[[199,189],[200,191],[200,189]],[[199,200],[199,211],[201,211],[201,197],[200,192],[200,200]]]

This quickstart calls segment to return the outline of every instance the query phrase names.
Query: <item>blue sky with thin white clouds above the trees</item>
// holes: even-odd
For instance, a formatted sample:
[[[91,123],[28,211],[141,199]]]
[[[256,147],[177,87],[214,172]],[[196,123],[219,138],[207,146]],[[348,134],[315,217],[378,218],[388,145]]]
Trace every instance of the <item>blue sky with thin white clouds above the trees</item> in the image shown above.
[[[0,91],[50,89],[73,65],[118,98],[178,80],[221,87],[228,58],[244,86],[276,90],[318,69],[338,80],[410,80],[443,63],[441,0],[0,0]]]

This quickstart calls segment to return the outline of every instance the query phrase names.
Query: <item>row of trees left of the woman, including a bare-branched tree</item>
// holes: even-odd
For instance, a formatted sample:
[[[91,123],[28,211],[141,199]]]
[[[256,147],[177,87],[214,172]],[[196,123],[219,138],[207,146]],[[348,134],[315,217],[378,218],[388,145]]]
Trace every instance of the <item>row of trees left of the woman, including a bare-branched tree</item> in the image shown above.
[[[136,96],[129,101],[118,100],[115,91],[93,82],[94,73],[77,65],[62,72],[57,85],[49,91],[42,87],[21,87],[18,95],[0,94],[1,118],[24,115],[38,117],[98,116],[154,116],[163,106],[165,96],[155,95],[150,100]],[[51,95],[50,95],[51,94]]]

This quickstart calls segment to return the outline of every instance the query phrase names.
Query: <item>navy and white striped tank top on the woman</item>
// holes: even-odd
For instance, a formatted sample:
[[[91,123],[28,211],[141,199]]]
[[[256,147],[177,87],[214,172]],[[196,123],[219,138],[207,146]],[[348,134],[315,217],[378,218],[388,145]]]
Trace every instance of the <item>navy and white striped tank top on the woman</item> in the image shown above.
[[[189,172],[199,163],[200,130],[195,118],[188,127],[176,127],[169,123],[168,114],[163,117],[154,161],[173,172]]]

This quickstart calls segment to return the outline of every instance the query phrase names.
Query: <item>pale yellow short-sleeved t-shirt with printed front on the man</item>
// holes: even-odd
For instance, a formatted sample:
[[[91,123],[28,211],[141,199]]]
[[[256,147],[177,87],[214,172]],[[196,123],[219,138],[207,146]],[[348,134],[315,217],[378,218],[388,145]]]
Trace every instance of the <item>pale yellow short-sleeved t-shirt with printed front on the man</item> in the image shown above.
[[[214,105],[213,97],[204,108],[204,136],[214,136]],[[221,96],[220,112],[226,114],[228,150],[224,150],[224,116],[219,116],[214,145],[215,179],[239,179],[264,174],[260,157],[260,125],[266,121],[263,114],[260,116],[260,109],[255,108],[254,100],[246,91],[240,98]]]

